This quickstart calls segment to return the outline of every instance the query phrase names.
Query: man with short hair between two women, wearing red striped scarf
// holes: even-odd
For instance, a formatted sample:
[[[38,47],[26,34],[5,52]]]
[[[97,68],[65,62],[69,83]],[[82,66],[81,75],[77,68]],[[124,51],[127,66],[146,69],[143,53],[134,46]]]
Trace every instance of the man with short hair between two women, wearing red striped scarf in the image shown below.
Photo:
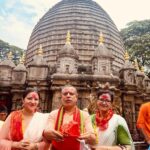
[[[50,113],[43,136],[52,150],[84,150],[84,142],[94,144],[95,134],[88,112],[77,107],[77,89],[66,85],[61,91],[62,106]]]

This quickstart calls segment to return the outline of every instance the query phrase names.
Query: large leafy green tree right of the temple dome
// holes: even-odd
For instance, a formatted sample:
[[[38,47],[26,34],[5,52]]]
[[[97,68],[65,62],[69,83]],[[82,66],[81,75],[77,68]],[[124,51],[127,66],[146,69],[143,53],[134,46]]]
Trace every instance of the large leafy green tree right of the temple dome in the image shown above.
[[[150,20],[128,23],[121,35],[131,61],[137,58],[139,65],[150,72]]]

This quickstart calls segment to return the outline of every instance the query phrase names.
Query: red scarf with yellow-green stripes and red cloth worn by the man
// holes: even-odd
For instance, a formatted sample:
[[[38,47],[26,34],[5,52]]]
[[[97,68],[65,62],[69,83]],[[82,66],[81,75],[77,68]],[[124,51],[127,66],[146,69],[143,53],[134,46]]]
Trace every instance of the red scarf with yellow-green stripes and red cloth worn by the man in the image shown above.
[[[55,129],[64,135],[64,141],[52,141],[52,150],[80,150],[80,142],[77,138],[80,133],[83,133],[83,116],[80,110],[76,107],[73,113],[73,121],[68,124],[63,124],[65,110],[61,107],[58,111]]]

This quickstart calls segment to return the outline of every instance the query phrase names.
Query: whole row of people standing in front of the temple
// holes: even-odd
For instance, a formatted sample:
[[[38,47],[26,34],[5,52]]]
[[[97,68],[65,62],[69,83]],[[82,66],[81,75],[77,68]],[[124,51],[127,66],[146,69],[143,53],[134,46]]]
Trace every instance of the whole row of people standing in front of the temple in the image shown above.
[[[0,118],[0,150],[134,150],[125,119],[113,112],[113,99],[112,91],[100,90],[96,113],[90,115],[78,108],[77,89],[66,85],[61,90],[61,107],[41,113],[40,95],[29,89],[23,95],[22,109],[11,112],[6,120],[5,111]],[[0,109],[0,113],[5,110]],[[150,108],[141,111],[137,126],[150,143],[149,120],[144,120]]]

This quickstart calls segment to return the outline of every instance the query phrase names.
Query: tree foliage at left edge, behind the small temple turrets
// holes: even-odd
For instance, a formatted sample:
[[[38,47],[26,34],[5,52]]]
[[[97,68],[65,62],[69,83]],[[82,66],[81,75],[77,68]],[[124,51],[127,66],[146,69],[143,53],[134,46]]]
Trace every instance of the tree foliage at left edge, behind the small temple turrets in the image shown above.
[[[17,46],[9,45],[9,43],[0,40],[0,60],[6,59],[7,54],[10,51],[12,52],[14,63],[17,64],[19,61],[19,58],[20,58],[20,56],[22,56],[24,50]]]

